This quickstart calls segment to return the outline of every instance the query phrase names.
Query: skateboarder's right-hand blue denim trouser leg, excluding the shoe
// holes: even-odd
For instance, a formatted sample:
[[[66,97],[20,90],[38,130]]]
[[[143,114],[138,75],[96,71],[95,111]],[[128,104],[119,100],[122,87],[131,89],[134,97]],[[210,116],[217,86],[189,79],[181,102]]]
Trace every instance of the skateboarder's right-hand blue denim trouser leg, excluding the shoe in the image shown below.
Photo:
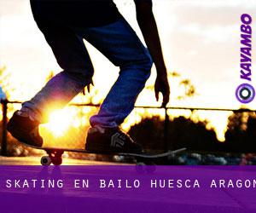
[[[152,60],[148,49],[124,19],[108,26],[77,30],[115,66],[120,67],[119,78],[103,101],[100,111],[90,118],[92,126],[117,127],[134,108],[137,95],[150,75]]]

